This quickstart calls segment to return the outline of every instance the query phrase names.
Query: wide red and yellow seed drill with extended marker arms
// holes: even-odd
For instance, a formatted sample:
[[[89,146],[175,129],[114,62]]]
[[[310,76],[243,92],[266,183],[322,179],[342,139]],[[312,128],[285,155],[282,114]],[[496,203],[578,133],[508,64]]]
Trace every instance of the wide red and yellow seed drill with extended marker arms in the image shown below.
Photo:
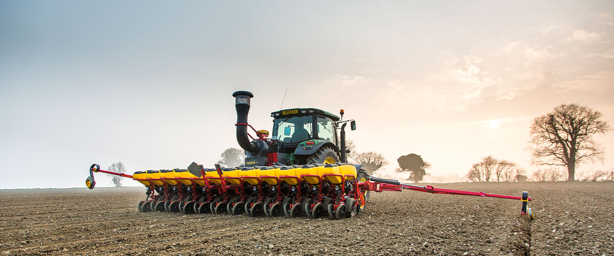
[[[522,196],[495,195],[403,184],[368,176],[362,165],[333,163],[293,166],[252,166],[206,169],[192,163],[187,169],[138,171],[133,175],[103,171],[91,165],[88,188],[95,186],[93,173],[115,174],[141,182],[147,198],[140,212],[230,214],[257,217],[308,217],[327,215],[340,220],[365,209],[370,192],[416,190],[420,192],[489,196],[521,200],[521,215],[533,219],[527,192]]]

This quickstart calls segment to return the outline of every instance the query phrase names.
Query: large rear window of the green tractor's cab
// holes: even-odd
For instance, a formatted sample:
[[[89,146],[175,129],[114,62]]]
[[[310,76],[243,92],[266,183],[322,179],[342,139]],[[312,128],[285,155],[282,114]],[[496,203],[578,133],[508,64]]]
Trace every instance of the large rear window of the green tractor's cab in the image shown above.
[[[280,142],[301,142],[313,138],[313,116],[276,118],[273,137]]]

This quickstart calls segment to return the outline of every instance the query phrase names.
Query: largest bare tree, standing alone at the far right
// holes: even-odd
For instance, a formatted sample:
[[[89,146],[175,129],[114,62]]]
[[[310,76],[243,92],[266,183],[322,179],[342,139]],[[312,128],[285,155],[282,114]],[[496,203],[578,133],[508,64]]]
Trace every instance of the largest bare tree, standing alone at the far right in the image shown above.
[[[530,126],[529,150],[535,165],[567,166],[568,180],[575,180],[575,166],[585,161],[602,161],[604,149],[594,134],[610,130],[603,115],[577,103],[561,104]]]

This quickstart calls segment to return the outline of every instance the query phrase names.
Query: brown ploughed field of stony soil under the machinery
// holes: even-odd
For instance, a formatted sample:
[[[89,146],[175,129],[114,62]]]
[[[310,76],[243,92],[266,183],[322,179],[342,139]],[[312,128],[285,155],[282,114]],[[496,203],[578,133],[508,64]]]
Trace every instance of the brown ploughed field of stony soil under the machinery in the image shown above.
[[[138,212],[144,188],[0,190],[0,255],[614,255],[614,183],[433,184],[352,219]]]

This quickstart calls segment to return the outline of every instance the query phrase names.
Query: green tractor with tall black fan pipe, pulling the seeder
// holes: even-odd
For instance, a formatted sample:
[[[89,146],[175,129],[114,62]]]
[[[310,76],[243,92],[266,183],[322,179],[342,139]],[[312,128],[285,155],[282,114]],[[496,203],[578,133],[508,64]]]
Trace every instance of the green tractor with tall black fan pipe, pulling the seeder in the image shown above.
[[[273,131],[256,131],[247,123],[251,98],[249,91],[236,91],[235,108],[237,114],[236,138],[246,152],[244,166],[270,165],[311,165],[328,163],[347,163],[345,127],[350,123],[356,130],[356,121],[342,121],[330,112],[320,109],[285,109],[271,113]],[[247,133],[247,127],[256,131],[257,138]],[[340,134],[337,134],[337,131]]]

